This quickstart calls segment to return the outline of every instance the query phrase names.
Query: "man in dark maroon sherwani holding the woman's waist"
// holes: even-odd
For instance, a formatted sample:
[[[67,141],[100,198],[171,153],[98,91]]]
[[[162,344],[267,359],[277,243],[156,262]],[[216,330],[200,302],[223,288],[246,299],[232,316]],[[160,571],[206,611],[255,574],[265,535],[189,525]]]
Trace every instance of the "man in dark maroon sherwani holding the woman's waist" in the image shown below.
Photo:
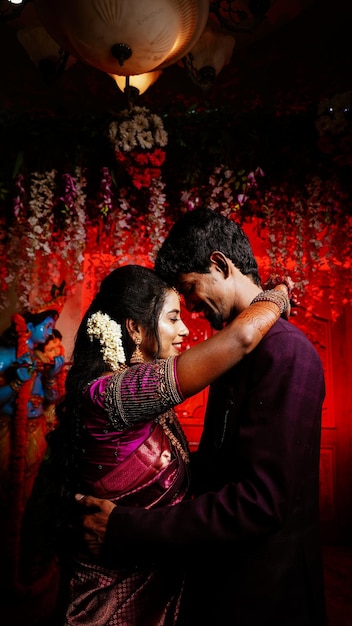
[[[155,269],[214,329],[261,291],[246,235],[207,209],[173,226]],[[210,388],[194,498],[146,511],[87,497],[86,505],[97,506],[84,521],[88,544],[97,549],[96,533],[112,564],[166,558],[172,568],[182,560],[182,624],[324,626],[318,502],[324,393],[314,347],[280,318]]]

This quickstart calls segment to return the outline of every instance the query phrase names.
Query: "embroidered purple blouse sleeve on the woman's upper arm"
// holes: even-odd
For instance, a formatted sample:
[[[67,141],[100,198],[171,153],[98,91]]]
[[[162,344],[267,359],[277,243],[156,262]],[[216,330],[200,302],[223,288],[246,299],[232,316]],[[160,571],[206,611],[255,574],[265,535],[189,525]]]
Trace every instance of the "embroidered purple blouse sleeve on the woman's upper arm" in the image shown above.
[[[176,358],[135,365],[109,377],[104,408],[116,430],[150,421],[183,402],[176,380]]]

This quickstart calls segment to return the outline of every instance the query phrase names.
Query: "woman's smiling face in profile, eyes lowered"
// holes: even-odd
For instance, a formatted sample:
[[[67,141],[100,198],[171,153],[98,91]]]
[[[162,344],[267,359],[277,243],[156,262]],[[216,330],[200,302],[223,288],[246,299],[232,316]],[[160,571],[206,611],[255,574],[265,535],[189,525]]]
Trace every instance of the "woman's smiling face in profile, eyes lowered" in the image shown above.
[[[182,352],[185,347],[183,342],[188,337],[189,330],[180,317],[180,297],[174,289],[170,289],[166,295],[159,317],[158,332],[160,338],[159,358],[166,359]],[[152,351],[149,351],[146,350],[146,343],[142,341],[140,347],[145,360],[149,361],[154,358],[156,345],[153,346]]]

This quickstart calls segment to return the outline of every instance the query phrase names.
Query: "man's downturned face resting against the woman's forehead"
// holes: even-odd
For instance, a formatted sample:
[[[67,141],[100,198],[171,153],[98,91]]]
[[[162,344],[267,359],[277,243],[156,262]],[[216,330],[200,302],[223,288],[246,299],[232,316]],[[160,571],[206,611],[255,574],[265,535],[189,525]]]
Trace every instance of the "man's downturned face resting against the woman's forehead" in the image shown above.
[[[180,274],[177,288],[188,311],[202,313],[215,330],[221,330],[233,317],[233,293],[216,265],[212,264],[207,274]]]

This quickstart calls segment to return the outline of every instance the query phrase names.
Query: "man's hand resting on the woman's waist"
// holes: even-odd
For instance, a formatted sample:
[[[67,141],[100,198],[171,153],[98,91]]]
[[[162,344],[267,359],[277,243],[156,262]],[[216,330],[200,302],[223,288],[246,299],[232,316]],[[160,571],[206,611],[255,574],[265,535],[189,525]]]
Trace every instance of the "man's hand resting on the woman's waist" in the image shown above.
[[[106,534],[108,519],[115,504],[93,496],[75,495],[76,502],[85,507],[82,515],[82,539],[87,550],[95,557],[101,557],[101,550]],[[91,510],[90,510],[91,509]]]

